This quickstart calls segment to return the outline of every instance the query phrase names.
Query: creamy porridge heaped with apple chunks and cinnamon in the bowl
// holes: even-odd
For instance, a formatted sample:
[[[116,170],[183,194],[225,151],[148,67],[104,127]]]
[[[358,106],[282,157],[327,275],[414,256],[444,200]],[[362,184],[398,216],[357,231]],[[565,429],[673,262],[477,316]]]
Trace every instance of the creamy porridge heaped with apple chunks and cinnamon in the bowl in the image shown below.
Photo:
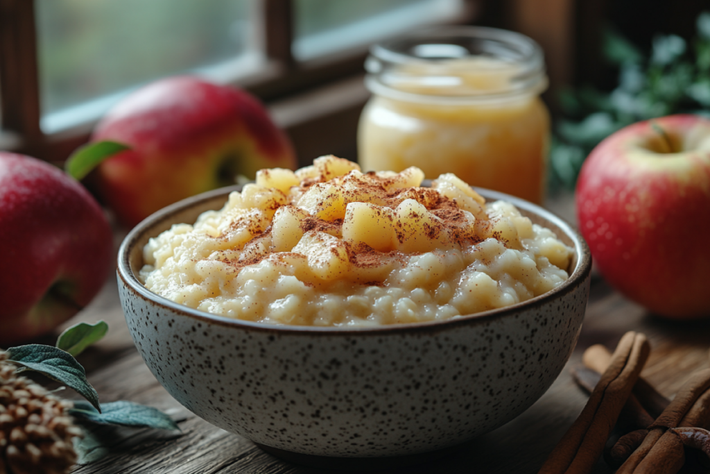
[[[453,174],[361,173],[334,156],[259,171],[221,210],[143,249],[146,287],[262,323],[367,326],[457,318],[567,279],[572,249]]]

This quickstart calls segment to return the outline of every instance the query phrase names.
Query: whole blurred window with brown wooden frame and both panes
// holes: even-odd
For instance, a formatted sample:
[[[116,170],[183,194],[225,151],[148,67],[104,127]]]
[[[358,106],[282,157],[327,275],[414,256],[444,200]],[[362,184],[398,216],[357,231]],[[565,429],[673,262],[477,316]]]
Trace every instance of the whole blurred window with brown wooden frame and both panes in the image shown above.
[[[62,161],[126,93],[195,73],[261,99],[363,72],[368,45],[479,0],[0,0],[0,148]],[[307,120],[307,119],[304,119]]]

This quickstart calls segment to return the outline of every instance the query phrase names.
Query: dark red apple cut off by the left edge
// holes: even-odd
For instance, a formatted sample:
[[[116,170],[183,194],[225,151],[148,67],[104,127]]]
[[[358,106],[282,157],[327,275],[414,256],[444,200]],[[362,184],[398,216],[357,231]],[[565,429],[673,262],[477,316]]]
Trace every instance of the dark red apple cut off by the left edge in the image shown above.
[[[0,152],[0,347],[50,332],[86,306],[114,264],[109,222],[48,163]]]

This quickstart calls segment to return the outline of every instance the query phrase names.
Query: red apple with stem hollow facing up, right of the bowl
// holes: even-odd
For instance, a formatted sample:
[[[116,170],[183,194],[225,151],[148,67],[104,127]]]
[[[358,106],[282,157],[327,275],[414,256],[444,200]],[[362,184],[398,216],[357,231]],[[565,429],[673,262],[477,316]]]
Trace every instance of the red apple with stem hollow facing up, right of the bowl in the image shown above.
[[[669,318],[710,317],[710,120],[627,126],[590,153],[577,183],[582,235],[601,274]]]

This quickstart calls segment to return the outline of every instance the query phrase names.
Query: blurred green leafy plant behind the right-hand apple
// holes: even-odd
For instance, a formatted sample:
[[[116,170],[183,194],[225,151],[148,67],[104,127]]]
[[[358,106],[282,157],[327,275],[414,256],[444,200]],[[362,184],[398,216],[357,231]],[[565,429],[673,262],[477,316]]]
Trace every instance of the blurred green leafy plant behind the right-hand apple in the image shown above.
[[[618,85],[611,92],[583,86],[562,90],[550,146],[550,185],[574,189],[584,158],[614,131],[639,120],[669,114],[710,117],[710,12],[696,21],[688,45],[677,35],[656,36],[650,54],[607,28],[602,53],[618,67]]]

